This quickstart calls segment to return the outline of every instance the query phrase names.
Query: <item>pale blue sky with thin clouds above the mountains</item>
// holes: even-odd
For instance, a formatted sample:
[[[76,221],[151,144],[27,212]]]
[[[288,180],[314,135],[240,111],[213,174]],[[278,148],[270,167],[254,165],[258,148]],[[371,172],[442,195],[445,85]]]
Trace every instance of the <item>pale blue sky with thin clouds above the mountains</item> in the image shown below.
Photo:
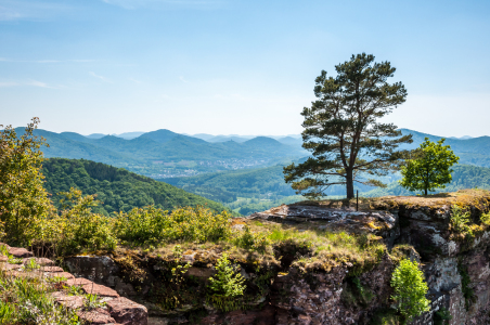
[[[0,123],[55,132],[292,134],[314,78],[397,67],[387,120],[490,135],[490,1],[0,0]]]

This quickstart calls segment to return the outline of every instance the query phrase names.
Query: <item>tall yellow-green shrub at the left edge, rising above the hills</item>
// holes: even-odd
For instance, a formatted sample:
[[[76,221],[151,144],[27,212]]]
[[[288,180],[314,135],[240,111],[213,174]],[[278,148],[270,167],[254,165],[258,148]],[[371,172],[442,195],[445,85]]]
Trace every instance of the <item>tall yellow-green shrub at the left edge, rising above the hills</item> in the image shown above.
[[[42,187],[40,147],[46,143],[33,134],[38,123],[33,118],[21,136],[11,126],[0,131],[0,235],[10,244],[29,245],[51,208]]]

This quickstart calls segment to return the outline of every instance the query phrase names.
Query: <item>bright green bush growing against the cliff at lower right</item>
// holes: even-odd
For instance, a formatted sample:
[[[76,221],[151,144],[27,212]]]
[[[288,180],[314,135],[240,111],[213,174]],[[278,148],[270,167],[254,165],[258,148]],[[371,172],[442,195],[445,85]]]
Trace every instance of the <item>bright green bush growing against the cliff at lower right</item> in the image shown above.
[[[425,298],[428,290],[427,283],[416,261],[412,262],[408,259],[400,261],[391,275],[391,287],[395,290],[391,298],[396,301],[405,322],[430,310],[429,300]]]

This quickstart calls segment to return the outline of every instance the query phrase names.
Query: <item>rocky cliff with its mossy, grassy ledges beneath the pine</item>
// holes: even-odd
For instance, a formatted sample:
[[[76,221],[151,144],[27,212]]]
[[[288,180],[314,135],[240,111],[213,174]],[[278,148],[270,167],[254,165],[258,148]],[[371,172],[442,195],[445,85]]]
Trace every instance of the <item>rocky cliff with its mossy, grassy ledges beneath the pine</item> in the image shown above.
[[[453,207],[467,220],[455,223]],[[430,300],[430,311],[412,324],[490,324],[490,227],[482,218],[489,207],[488,192],[463,191],[363,199],[359,211],[349,202],[306,202],[235,220],[237,232],[280,224],[298,238],[356,234],[368,248],[349,250],[345,235],[345,250],[289,239],[269,252],[231,250],[247,286],[232,301],[206,294],[222,245],[125,248],[63,262],[75,276],[145,306],[149,324],[399,324],[390,281],[409,258],[421,262]]]

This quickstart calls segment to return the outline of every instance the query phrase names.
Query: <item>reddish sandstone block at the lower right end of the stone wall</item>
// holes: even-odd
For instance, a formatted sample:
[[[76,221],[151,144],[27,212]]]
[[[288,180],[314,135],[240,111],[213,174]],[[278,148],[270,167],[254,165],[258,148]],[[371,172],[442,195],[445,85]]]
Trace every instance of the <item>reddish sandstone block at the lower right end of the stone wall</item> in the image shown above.
[[[120,297],[107,302],[111,316],[125,325],[146,325],[149,312],[146,307]]]

